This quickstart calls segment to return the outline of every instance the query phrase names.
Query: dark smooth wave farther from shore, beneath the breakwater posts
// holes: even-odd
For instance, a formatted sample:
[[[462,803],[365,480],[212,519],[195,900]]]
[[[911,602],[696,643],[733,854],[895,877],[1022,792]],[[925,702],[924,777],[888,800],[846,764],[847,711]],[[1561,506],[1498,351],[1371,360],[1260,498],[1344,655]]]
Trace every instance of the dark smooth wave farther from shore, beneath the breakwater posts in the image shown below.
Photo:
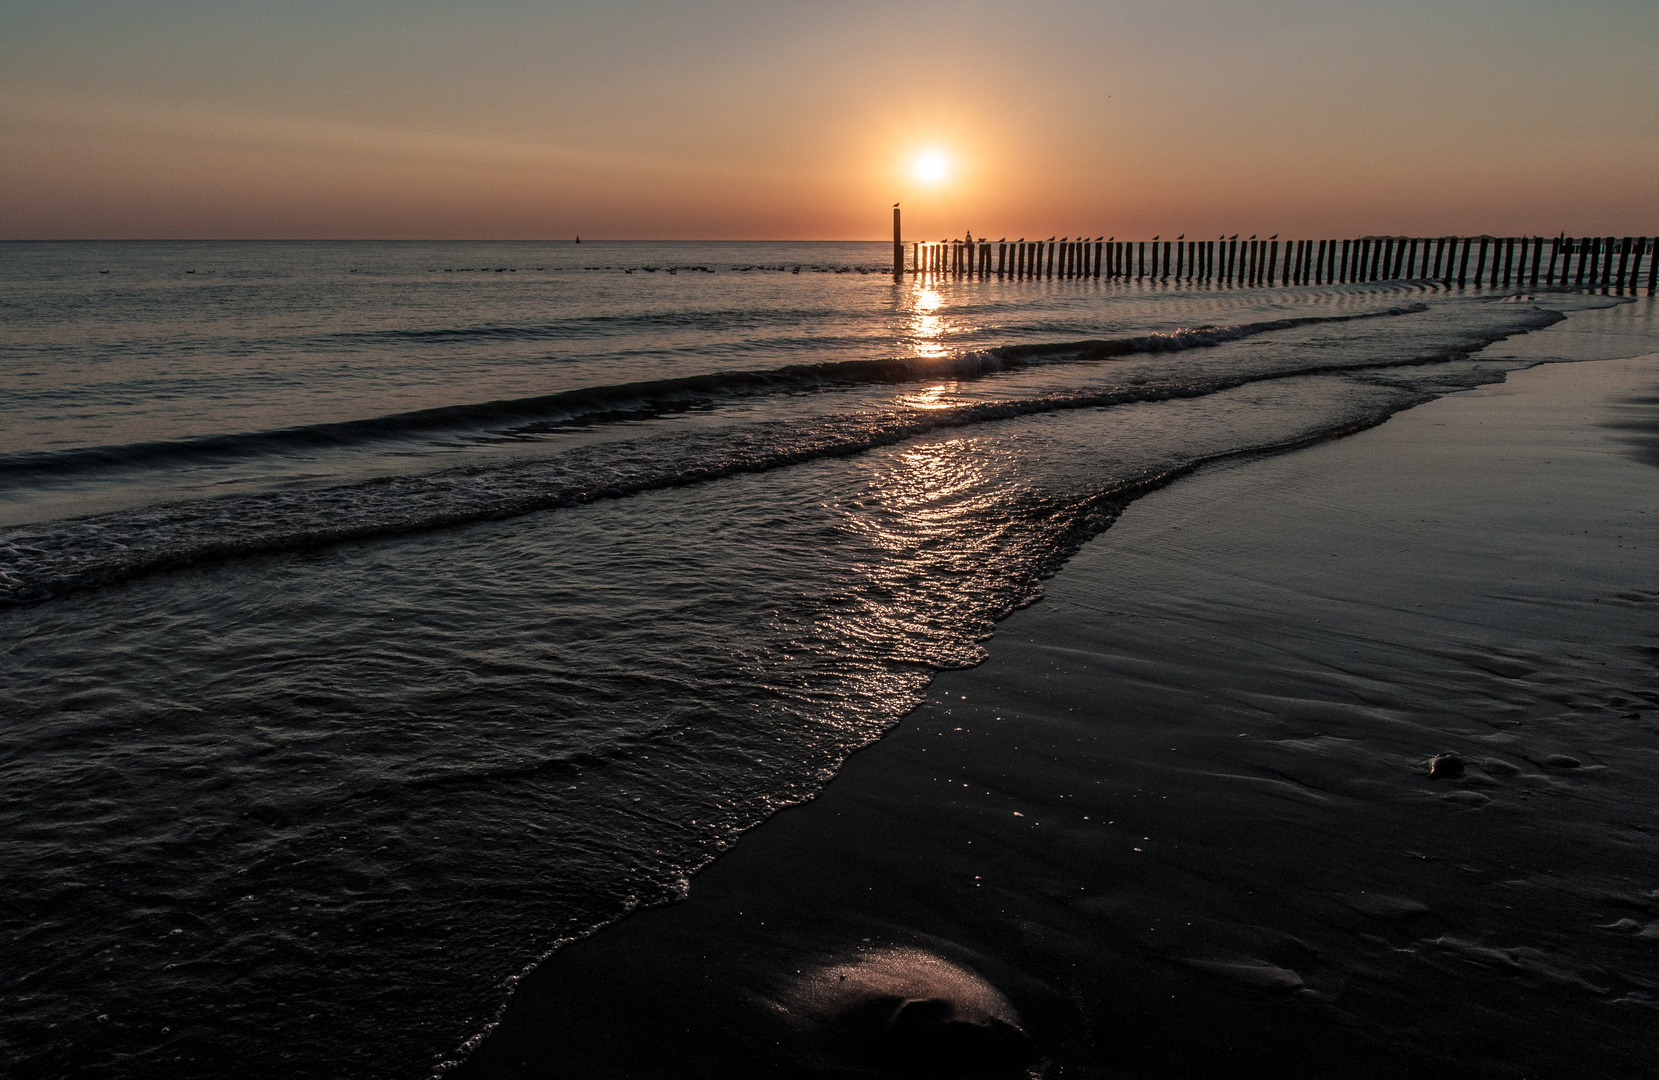
[[[60,478],[90,469],[158,466],[199,460],[251,458],[322,448],[365,445],[372,441],[431,436],[460,431],[529,433],[559,425],[594,423],[607,418],[640,418],[642,415],[680,411],[712,401],[740,396],[800,393],[838,387],[878,383],[911,383],[927,380],[974,380],[999,372],[1029,368],[1039,363],[1075,363],[1108,360],[1135,353],[1178,352],[1234,342],[1258,333],[1342,324],[1360,319],[1384,319],[1428,310],[1423,304],[1407,304],[1382,310],[1345,315],[1306,315],[1223,327],[1194,327],[1165,333],[1141,333],[1105,340],[1075,340],[1034,345],[1000,345],[954,357],[889,357],[881,360],[839,360],[791,363],[763,370],[710,372],[679,378],[644,380],[524,398],[499,398],[466,405],[388,413],[365,420],[297,425],[265,431],[202,435],[182,440],[154,440],[113,446],[80,446],[53,451],[13,451],[0,455],[0,473],[10,483],[30,478]],[[466,332],[508,332],[509,328],[476,328]],[[397,333],[450,333],[448,330]],[[531,426],[536,425],[536,426]]]

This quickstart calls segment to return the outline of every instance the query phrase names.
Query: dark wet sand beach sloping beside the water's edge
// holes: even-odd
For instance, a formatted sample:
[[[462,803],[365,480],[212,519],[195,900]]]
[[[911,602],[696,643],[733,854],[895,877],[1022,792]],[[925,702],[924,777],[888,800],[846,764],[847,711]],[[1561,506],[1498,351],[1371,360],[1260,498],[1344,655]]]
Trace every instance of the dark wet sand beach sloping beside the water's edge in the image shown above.
[[[460,1075],[1659,1075],[1656,390],[1541,367],[1131,504]]]

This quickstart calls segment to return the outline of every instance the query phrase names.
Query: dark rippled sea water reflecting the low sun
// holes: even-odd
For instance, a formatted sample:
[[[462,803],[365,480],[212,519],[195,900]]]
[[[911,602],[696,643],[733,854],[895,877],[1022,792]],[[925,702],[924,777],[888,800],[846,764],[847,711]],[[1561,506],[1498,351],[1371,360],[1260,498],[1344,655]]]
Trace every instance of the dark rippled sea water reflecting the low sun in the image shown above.
[[[886,259],[0,246],[0,1072],[441,1072],[1126,501],[1593,302]]]

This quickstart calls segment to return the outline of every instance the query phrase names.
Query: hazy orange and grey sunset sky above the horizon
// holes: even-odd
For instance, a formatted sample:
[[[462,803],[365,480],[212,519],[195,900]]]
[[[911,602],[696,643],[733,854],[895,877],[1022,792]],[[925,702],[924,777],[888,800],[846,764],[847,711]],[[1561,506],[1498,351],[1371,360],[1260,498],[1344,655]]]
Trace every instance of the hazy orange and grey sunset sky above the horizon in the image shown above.
[[[0,239],[884,239],[896,201],[909,239],[1659,232],[1652,0],[0,0]]]

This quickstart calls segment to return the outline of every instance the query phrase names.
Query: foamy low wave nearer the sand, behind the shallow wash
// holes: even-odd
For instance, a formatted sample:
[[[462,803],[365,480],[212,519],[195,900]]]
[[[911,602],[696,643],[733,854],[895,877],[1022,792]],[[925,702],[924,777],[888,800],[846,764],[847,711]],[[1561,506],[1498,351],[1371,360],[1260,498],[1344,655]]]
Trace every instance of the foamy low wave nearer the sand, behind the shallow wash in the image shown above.
[[[601,499],[697,484],[738,473],[851,456],[878,446],[947,428],[962,428],[1035,413],[1110,408],[1141,401],[1196,398],[1266,380],[1357,373],[1367,368],[1445,362],[1561,319],[1533,309],[1505,327],[1475,338],[1460,338],[1438,352],[1374,363],[1281,365],[1193,382],[1062,390],[1030,398],[956,405],[941,410],[896,408],[886,415],[834,413],[808,423],[763,421],[700,431],[579,446],[547,460],[471,465],[423,476],[388,476],[357,484],[309,491],[222,496],[191,503],[121,511],[45,528],[0,534],[0,606],[40,602],[65,592],[96,587],[143,574],[209,559],[269,551],[320,547],[400,533],[506,519],[536,511],[582,506]],[[1276,325],[1306,325],[1281,320]],[[1160,338],[1168,347],[1191,347],[1199,332]],[[1204,332],[1234,338],[1244,328]],[[1150,348],[1140,338],[1140,348]],[[1178,345],[1176,342],[1188,342]],[[1077,353],[1078,343],[1017,347],[1029,357],[1050,350]],[[1092,355],[1133,352],[1125,342],[1095,342]],[[1098,352],[1103,347],[1107,352]],[[937,377],[937,375],[934,375]],[[1445,387],[1438,387],[1445,390]],[[1404,388],[1400,406],[1435,396],[1433,390]]]

